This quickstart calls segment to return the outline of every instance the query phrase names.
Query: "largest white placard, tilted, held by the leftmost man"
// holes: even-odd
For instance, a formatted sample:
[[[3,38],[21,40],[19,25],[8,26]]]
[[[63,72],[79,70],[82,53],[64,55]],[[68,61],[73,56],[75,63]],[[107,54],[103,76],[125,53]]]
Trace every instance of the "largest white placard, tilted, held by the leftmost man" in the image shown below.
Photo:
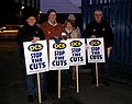
[[[48,71],[46,41],[37,41],[36,43],[24,42],[23,46],[26,74]]]

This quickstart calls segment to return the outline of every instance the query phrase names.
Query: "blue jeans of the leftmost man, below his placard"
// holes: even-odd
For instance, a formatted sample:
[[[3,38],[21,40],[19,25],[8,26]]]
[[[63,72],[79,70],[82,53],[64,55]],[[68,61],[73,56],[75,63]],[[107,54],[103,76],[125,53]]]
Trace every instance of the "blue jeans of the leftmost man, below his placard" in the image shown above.
[[[38,94],[37,92],[37,74],[26,74],[26,69],[25,69],[25,62],[24,59],[21,60],[22,63],[22,69],[24,70],[25,73],[25,86],[26,86],[26,93],[28,95],[36,95]],[[40,86],[41,86],[41,93],[46,94],[46,80],[45,80],[45,73],[40,73]]]

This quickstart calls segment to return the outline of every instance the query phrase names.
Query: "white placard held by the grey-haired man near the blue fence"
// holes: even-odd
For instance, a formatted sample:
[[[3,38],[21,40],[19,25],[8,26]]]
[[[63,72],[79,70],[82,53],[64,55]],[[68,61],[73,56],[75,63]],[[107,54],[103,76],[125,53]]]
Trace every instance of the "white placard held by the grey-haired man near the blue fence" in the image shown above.
[[[88,62],[105,62],[103,37],[87,38]]]

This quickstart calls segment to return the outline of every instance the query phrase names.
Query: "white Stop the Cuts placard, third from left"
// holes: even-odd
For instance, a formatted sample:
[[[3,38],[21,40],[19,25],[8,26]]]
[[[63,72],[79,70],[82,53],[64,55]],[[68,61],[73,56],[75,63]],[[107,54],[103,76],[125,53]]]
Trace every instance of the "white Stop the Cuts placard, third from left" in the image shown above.
[[[85,38],[69,38],[69,66],[86,65]]]

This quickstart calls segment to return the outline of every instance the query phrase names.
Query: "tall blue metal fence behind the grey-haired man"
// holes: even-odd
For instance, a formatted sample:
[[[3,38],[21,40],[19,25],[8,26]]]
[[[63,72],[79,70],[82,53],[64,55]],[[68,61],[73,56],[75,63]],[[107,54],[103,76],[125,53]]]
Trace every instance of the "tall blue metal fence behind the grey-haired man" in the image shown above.
[[[132,78],[132,2],[131,0],[82,0],[82,31],[101,9],[114,34],[113,53],[109,61],[111,73]]]

